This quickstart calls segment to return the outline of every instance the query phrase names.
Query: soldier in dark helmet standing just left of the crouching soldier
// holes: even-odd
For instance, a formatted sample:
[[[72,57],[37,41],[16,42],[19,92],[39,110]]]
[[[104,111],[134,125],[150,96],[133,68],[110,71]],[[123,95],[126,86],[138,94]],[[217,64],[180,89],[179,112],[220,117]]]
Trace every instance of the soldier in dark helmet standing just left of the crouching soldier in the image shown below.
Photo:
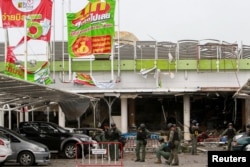
[[[136,134],[136,160],[135,162],[145,162],[146,157],[146,145],[147,145],[147,139],[149,138],[149,130],[146,129],[146,126],[144,123],[140,125],[140,127],[137,130]],[[140,152],[142,152],[142,155],[140,157]]]

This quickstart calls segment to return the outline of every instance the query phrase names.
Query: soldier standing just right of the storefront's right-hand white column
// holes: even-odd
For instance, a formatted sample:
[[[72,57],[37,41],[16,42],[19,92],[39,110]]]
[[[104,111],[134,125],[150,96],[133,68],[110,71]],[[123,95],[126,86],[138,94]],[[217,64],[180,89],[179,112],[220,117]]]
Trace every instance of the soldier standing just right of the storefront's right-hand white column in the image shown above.
[[[197,140],[199,136],[199,123],[196,120],[192,121],[192,124],[189,128],[191,141],[192,141],[192,155],[197,155]]]

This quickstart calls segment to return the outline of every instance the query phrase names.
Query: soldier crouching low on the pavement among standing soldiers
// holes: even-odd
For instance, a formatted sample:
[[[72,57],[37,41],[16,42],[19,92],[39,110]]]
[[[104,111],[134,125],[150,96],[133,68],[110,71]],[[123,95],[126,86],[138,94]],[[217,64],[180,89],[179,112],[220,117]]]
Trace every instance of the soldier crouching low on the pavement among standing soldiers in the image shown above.
[[[170,156],[170,149],[169,149],[169,146],[168,146],[168,143],[164,141],[164,138],[159,138],[159,143],[160,143],[160,146],[156,149],[156,162],[155,164],[161,164],[162,161],[161,161],[161,156],[163,158],[165,158],[166,160],[169,159],[169,156]]]

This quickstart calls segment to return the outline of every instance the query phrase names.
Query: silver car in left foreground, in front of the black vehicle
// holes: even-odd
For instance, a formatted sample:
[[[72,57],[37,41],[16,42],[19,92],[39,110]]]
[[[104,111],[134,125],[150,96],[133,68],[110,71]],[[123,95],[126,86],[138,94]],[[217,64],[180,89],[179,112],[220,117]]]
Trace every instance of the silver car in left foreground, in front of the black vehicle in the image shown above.
[[[48,164],[50,152],[47,146],[29,140],[19,133],[0,126],[0,133],[4,134],[10,141],[12,154],[5,162],[16,162],[22,166],[31,166],[38,163]]]

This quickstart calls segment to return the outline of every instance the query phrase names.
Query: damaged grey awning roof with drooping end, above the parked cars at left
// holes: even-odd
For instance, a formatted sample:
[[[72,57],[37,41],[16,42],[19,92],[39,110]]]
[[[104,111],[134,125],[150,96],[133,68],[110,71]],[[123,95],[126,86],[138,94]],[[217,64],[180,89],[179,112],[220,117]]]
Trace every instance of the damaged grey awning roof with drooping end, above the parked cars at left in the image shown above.
[[[69,120],[81,116],[90,105],[90,96],[62,91],[45,85],[0,74],[0,110],[18,110],[27,106],[48,106],[58,103]]]

